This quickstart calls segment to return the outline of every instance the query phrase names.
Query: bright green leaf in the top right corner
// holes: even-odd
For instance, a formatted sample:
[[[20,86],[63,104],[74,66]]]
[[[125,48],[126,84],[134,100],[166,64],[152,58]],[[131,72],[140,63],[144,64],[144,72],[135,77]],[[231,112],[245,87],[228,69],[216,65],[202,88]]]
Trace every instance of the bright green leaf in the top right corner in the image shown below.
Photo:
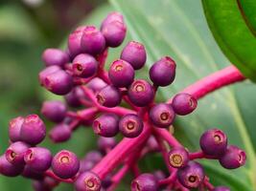
[[[242,73],[256,81],[256,1],[202,0],[221,50]]]

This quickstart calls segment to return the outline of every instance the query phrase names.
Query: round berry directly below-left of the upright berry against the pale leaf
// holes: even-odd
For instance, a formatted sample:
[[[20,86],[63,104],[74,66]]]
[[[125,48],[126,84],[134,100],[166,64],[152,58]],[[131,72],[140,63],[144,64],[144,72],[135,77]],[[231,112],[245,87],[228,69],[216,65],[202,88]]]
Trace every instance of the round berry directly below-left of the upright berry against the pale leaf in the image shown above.
[[[112,84],[118,88],[128,87],[134,79],[134,70],[125,60],[114,61],[108,71]]]

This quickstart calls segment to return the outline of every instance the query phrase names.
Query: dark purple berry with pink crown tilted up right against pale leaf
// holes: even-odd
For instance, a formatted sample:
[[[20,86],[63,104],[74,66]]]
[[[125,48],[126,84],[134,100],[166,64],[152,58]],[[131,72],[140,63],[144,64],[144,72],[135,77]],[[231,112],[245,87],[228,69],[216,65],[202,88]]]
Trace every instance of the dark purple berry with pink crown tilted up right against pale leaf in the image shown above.
[[[151,81],[157,86],[170,85],[175,80],[175,68],[175,61],[171,57],[162,57],[151,66]]]

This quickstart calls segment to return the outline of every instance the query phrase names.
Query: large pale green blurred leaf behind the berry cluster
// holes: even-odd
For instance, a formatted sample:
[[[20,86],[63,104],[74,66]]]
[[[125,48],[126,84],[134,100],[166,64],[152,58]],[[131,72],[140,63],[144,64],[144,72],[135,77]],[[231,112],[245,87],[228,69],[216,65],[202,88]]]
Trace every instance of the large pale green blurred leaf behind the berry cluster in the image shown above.
[[[159,101],[230,64],[208,29],[199,1],[110,0],[110,3],[126,17],[128,40],[137,40],[146,46],[148,61],[141,76],[147,76],[151,64],[161,56],[174,57],[177,64],[175,83],[160,89]],[[192,151],[199,148],[201,133],[212,127],[221,128],[228,135],[230,144],[246,151],[245,167],[233,171],[223,169],[216,161],[201,160],[215,185],[227,185],[236,191],[256,189],[253,185],[255,94],[255,85],[249,81],[223,88],[201,99],[194,114],[176,119],[175,137]],[[153,161],[151,163],[155,165]]]

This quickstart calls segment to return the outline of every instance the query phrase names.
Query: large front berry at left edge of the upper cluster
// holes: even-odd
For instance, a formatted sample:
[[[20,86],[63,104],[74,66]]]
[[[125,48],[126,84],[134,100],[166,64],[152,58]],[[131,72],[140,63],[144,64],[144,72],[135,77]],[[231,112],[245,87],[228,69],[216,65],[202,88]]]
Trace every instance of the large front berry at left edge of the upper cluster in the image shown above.
[[[57,71],[47,74],[44,79],[43,86],[50,92],[56,95],[66,95],[73,88],[73,78],[65,71]]]

